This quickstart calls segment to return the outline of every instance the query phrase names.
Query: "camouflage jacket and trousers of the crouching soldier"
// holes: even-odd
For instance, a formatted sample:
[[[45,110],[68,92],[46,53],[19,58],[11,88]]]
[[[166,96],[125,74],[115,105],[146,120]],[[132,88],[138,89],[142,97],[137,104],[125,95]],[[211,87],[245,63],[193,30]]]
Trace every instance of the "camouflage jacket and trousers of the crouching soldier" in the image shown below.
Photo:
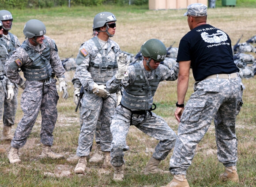
[[[142,65],[143,70],[145,70],[143,66],[143,61],[139,63]],[[177,80],[179,72],[178,63],[172,69],[169,69],[161,64],[158,66],[158,68],[160,81]],[[153,74],[155,73],[155,70],[145,70],[145,73],[147,76],[147,80],[150,82],[153,79]],[[115,76],[113,76],[112,79],[109,80],[106,84],[107,91],[110,93],[115,93],[120,90],[120,86],[123,86],[124,90],[132,87],[137,77],[136,64],[128,66],[127,74],[128,76],[124,77],[123,80],[118,80]],[[147,85],[146,80],[144,84]],[[133,97],[137,97],[138,100],[140,99],[140,96],[141,95],[136,95],[136,93],[134,93],[133,95]],[[150,103],[148,104],[150,106],[152,106],[153,103],[153,96],[154,94],[151,95],[151,99],[149,99]],[[136,103],[131,102],[128,108],[133,109],[134,106],[136,106]],[[113,141],[111,143],[111,164],[116,167],[124,165],[125,163],[124,151],[129,149],[126,145],[126,136],[130,127],[130,118],[131,115],[124,112],[122,106],[117,106],[114,111],[114,115],[111,117],[110,129],[113,136]],[[149,112],[146,112],[143,115],[133,115],[132,125],[135,125],[136,128],[138,128],[145,134],[160,140],[155,148],[152,157],[157,160],[164,160],[169,154],[169,151],[173,148],[176,140],[175,132],[173,132],[173,130],[167,125],[166,121],[164,121],[162,117],[157,116],[153,112],[152,116],[149,114]]]

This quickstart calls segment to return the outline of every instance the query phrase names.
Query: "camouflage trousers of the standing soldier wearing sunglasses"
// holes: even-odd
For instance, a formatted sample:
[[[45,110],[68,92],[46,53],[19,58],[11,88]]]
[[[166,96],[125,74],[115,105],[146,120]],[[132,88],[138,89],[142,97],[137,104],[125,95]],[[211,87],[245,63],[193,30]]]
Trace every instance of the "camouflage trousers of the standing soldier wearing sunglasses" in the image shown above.
[[[95,129],[98,119],[101,121],[100,144],[102,151],[110,151],[112,134],[110,132],[110,116],[116,105],[116,94],[111,94],[107,99],[103,99],[93,93],[85,93],[79,106],[80,117],[83,125],[80,129],[78,147],[76,155],[79,157],[90,154]],[[99,125],[99,124],[98,124]]]

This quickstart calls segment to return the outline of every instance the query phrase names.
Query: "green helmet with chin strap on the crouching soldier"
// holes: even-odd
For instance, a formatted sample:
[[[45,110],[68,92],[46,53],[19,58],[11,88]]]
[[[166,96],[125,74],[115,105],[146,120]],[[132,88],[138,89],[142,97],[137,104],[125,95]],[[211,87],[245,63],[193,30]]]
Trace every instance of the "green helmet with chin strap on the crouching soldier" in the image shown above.
[[[162,41],[158,39],[150,39],[147,40],[140,48],[140,51],[143,56],[149,57],[147,61],[147,66],[151,69],[151,66],[149,65],[149,62],[151,59],[154,61],[162,62],[166,58],[166,46],[162,43]]]

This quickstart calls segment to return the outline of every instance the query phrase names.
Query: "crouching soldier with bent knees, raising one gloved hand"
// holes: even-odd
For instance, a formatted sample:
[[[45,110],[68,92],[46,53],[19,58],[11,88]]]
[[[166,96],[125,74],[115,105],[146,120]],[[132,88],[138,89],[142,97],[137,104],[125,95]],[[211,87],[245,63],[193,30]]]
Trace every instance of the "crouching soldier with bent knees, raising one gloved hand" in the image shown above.
[[[169,69],[160,64],[166,58],[166,46],[160,40],[146,41],[141,46],[141,53],[143,60],[129,67],[129,62],[125,62],[126,54],[119,55],[117,58],[118,73],[106,84],[109,93],[119,91],[120,86],[124,88],[121,103],[111,117],[113,180],[123,180],[124,178],[123,151],[129,149],[125,139],[130,125],[135,125],[142,132],[160,140],[144,170],[145,175],[157,172],[168,173],[168,171],[158,169],[157,166],[161,160],[167,157],[176,140],[175,132],[167,125],[166,121],[151,110],[153,110],[153,96],[159,82],[175,81],[178,77],[179,66],[176,64]]]

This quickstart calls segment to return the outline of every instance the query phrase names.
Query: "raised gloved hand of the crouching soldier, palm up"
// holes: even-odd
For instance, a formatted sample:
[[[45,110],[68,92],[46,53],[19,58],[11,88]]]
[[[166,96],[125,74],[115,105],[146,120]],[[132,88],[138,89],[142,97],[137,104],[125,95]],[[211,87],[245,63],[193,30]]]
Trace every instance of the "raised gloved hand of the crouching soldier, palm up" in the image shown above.
[[[128,66],[130,65],[130,60],[128,60],[128,62],[125,62],[126,57],[127,54],[124,53],[121,53],[117,56],[118,71],[115,75],[117,79],[124,79],[124,74],[126,73]]]

